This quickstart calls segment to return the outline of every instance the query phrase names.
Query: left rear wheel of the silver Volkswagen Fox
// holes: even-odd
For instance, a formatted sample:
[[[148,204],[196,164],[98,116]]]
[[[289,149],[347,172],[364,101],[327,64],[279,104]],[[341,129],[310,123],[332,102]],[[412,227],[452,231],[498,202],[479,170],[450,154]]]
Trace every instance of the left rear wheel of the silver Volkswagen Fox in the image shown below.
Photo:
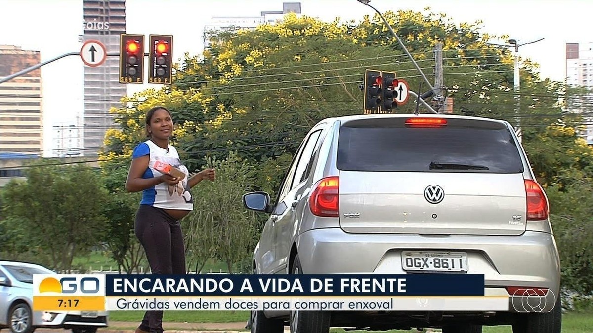
[[[291,268],[292,274],[303,274],[301,261],[295,257]],[[329,312],[324,311],[291,311],[291,333],[329,333]]]

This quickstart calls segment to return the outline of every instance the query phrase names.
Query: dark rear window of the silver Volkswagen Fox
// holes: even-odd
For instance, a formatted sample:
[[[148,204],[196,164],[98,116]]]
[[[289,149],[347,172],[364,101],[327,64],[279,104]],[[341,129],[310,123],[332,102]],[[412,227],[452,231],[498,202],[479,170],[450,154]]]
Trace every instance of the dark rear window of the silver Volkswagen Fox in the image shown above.
[[[441,127],[409,127],[406,119],[363,119],[340,128],[337,168],[345,171],[523,172],[511,132],[494,121],[447,119]],[[461,164],[487,169],[431,168]]]

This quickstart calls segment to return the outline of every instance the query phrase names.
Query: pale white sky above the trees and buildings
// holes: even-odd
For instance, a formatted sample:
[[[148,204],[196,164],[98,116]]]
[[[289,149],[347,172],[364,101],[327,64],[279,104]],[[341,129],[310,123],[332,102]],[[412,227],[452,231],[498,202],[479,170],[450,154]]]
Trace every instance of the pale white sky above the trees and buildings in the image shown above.
[[[259,16],[281,11],[281,0],[126,0],[126,30],[130,34],[172,34],[173,58],[203,50],[203,26],[213,16]],[[299,2],[290,0],[285,2]],[[356,0],[301,0],[302,14],[331,21],[361,20],[372,8]],[[565,44],[589,43],[590,0],[371,0],[381,12],[430,8],[457,23],[482,21],[482,31],[509,35],[519,43],[543,38],[519,48],[521,57],[540,64],[543,78],[565,78]],[[42,62],[82,43],[82,0],[0,0],[0,44],[41,52]],[[51,13],[51,14],[50,14]],[[162,19],[159,19],[163,17]],[[501,41],[502,42],[502,41]],[[82,113],[82,60],[69,56],[42,67],[44,150],[52,149],[52,126],[74,123]],[[447,84],[445,78],[445,85]],[[160,85],[128,85],[128,94]]]

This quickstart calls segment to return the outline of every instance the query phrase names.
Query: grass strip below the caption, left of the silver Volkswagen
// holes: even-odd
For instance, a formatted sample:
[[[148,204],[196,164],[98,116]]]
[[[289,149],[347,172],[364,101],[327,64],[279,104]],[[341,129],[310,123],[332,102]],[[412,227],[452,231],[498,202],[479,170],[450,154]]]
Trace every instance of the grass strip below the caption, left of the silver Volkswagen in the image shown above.
[[[140,322],[144,311],[110,311],[109,321]],[[247,322],[248,311],[165,311],[163,322]]]

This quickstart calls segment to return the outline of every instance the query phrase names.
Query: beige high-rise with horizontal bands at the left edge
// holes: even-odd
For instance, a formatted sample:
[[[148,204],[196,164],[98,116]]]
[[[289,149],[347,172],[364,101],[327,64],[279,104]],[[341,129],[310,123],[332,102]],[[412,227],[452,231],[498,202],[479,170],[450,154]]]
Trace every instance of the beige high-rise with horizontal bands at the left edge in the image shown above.
[[[0,78],[41,62],[39,51],[0,45]],[[41,70],[0,84],[0,153],[43,155]]]

